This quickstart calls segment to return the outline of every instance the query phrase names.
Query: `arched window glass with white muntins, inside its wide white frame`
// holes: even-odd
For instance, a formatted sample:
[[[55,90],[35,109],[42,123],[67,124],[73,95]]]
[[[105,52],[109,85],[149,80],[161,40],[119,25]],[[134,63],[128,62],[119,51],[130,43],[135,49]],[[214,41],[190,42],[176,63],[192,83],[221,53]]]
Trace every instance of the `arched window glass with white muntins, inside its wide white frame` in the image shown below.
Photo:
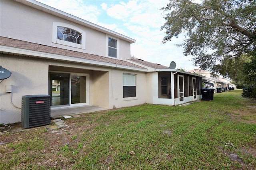
[[[57,27],[57,39],[82,44],[82,33],[67,27]]]

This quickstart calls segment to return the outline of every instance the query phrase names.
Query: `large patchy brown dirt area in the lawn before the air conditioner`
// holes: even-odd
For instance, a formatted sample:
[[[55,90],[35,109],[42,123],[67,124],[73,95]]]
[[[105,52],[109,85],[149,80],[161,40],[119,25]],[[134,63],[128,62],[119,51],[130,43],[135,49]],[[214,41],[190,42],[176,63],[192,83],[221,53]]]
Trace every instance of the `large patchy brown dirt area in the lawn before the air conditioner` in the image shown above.
[[[64,124],[67,126],[49,128],[49,130],[47,130],[48,127],[54,127],[53,121],[51,125],[35,128],[22,128],[20,123],[11,124],[9,125],[11,129],[8,133],[1,133],[0,136],[0,160],[19,160],[13,169],[27,169],[28,162],[26,158],[34,158],[36,160],[36,162],[30,162],[33,167],[29,169],[37,169],[38,167],[71,169],[74,166],[74,160],[78,159],[76,154],[78,147],[85,148],[93,140],[93,138],[86,138],[81,142],[81,138],[86,133],[92,133],[92,129],[98,125],[95,120],[88,120],[64,119]],[[94,123],[90,123],[90,121],[94,121]],[[42,142],[42,144],[27,146],[26,141],[30,141],[29,143],[31,141]],[[8,144],[11,144],[11,146]],[[11,154],[13,152],[15,152],[14,155],[17,158],[13,158]],[[65,156],[67,152],[73,152],[73,156],[69,159]],[[79,154],[86,155],[88,153],[80,149]],[[8,164],[8,162],[5,163]]]

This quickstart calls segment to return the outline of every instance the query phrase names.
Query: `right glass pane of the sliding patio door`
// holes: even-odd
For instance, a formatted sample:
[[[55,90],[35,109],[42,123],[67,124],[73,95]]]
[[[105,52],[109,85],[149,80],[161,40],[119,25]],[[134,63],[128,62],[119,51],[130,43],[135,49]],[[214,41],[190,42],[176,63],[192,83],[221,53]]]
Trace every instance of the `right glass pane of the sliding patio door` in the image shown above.
[[[86,76],[71,75],[71,104],[86,103]]]

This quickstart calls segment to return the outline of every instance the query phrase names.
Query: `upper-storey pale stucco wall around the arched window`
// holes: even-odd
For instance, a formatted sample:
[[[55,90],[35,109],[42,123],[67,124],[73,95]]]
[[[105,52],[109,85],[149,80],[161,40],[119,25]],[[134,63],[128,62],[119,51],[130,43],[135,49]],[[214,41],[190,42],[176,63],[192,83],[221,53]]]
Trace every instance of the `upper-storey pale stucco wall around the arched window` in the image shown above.
[[[108,48],[106,38],[108,36],[105,33],[10,0],[0,1],[0,12],[0,35],[3,37],[106,56],[106,49]],[[85,49],[52,43],[53,22],[71,24],[83,30],[86,39]],[[130,43],[124,40],[119,40],[119,43],[119,59],[129,59]]]

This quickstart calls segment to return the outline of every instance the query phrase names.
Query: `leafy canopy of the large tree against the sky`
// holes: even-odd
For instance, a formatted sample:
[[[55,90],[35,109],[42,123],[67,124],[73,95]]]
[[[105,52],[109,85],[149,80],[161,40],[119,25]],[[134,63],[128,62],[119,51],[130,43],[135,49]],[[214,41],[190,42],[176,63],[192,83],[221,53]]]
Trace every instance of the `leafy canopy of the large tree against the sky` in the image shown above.
[[[162,10],[166,13],[163,43],[186,33],[179,46],[184,47],[184,55],[194,56],[201,69],[228,76],[224,69],[229,63],[235,67],[245,53],[256,51],[255,0],[170,0]]]

